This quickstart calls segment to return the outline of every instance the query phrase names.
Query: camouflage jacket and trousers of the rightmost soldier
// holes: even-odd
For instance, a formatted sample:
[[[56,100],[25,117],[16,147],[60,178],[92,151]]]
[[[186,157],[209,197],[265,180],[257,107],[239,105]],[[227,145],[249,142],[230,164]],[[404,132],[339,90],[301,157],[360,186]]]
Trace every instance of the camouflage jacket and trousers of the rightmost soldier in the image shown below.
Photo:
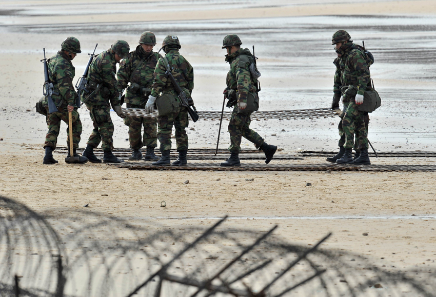
[[[336,58],[336,72],[334,74],[333,92],[343,96],[344,117],[341,120],[342,130],[339,127],[341,138],[339,145],[344,148],[353,148],[354,131],[359,136],[355,148],[368,149],[368,130],[365,124],[365,112],[359,111],[354,102],[356,94],[363,95],[370,81],[369,65],[365,55],[359,49],[354,48],[352,42],[347,42],[341,47],[341,57]],[[349,88],[349,86],[353,86]],[[369,117],[367,117],[369,121]]]

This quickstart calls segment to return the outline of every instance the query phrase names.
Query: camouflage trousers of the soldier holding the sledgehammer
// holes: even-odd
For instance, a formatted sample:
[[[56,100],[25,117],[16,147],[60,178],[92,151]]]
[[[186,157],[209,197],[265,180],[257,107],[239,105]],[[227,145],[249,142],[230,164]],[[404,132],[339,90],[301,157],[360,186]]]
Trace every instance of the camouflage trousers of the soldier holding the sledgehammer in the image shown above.
[[[46,135],[46,141],[44,147],[50,146],[53,149],[56,148],[57,136],[61,129],[61,122],[64,121],[68,125],[68,110],[66,108],[59,107],[57,112],[50,113],[46,116],[46,122],[48,132]],[[80,120],[77,109],[71,112],[72,126],[73,126],[73,148],[78,148],[80,142],[80,135],[82,134],[82,122]],[[70,129],[67,126],[67,146],[70,147]]]

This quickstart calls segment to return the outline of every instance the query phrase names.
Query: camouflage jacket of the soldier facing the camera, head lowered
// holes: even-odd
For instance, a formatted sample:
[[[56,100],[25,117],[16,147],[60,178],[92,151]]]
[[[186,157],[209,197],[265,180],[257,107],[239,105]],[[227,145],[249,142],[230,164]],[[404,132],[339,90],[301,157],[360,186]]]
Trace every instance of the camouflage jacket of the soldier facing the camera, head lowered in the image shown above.
[[[120,69],[116,73],[118,92],[123,93],[123,90],[130,82],[130,86],[126,91],[126,103],[133,105],[145,105],[147,103],[150,91],[147,94],[143,89],[151,89],[154,68],[156,68],[157,60],[160,57],[160,54],[153,51],[147,56],[141,45],[138,45],[136,50],[130,52],[127,58],[120,63]],[[141,66],[136,69],[143,60]],[[133,70],[135,70],[134,73],[132,73]],[[130,77],[132,77],[131,81],[129,81]]]

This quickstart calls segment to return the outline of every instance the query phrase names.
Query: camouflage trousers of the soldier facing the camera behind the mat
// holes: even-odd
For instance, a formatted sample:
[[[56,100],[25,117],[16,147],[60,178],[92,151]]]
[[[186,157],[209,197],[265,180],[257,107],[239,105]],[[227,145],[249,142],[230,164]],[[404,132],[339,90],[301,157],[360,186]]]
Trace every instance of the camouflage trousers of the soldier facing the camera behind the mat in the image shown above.
[[[127,108],[145,108],[145,104],[127,104]],[[143,146],[157,147],[157,121],[155,117],[128,116],[124,119],[124,125],[129,126],[129,142],[131,149],[138,150]],[[142,127],[144,127],[143,137],[141,137]]]

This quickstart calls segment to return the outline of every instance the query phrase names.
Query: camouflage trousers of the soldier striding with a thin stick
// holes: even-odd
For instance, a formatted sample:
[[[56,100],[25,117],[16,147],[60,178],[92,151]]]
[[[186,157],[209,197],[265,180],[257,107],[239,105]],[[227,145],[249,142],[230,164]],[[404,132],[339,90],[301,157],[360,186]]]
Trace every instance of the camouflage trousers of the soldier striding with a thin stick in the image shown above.
[[[242,137],[252,142],[256,148],[259,148],[265,141],[256,131],[250,129],[251,113],[237,113],[237,105],[234,106],[229,122],[230,146],[229,151],[241,152]]]

